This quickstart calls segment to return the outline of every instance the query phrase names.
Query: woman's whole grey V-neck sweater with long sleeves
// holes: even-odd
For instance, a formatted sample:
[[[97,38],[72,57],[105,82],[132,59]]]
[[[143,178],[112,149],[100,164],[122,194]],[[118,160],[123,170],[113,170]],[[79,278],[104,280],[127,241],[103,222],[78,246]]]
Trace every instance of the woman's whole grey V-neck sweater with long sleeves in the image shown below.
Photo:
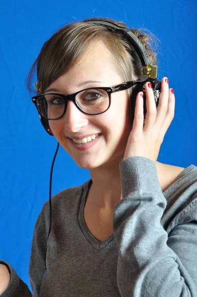
[[[113,234],[99,242],[85,224],[92,180],[58,193],[48,242],[48,201],[35,225],[33,295],[1,261],[11,272],[2,297],[197,297],[197,167],[163,192],[152,160],[130,157],[119,168],[123,199],[114,207]]]

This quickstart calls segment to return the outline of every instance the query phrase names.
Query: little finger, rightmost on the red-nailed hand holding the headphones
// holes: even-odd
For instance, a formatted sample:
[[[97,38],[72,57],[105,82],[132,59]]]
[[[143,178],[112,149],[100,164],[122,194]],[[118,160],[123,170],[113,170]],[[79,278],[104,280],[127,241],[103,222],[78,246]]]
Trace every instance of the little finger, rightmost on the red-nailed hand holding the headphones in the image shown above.
[[[169,96],[169,100],[168,100],[168,108],[167,108],[167,112],[166,112],[166,116],[165,119],[163,121],[160,133],[165,135],[166,131],[168,130],[173,118],[174,118],[174,112],[175,112],[175,96],[174,96],[174,90],[173,89],[169,89],[168,91],[168,96]]]

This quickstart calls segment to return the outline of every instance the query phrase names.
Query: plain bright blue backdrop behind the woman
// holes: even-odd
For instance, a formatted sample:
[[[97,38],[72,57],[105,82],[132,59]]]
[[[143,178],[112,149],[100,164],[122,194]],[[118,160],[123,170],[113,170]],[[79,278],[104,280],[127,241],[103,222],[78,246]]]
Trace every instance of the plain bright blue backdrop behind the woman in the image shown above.
[[[92,16],[148,28],[159,38],[158,78],[169,78],[176,107],[158,161],[197,166],[196,0],[0,0],[0,259],[8,261],[28,285],[32,235],[49,197],[56,141],[43,129],[25,79],[54,31]],[[89,178],[88,170],[78,168],[60,148],[52,195]]]

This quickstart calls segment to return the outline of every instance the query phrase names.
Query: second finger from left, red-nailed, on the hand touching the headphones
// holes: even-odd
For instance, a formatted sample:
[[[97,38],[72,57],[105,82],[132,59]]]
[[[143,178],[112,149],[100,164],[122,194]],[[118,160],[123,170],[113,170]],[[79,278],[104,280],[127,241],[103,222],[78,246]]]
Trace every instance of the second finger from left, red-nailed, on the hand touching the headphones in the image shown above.
[[[156,105],[154,101],[154,94],[150,82],[145,84],[147,114],[144,129],[152,128],[156,119]]]

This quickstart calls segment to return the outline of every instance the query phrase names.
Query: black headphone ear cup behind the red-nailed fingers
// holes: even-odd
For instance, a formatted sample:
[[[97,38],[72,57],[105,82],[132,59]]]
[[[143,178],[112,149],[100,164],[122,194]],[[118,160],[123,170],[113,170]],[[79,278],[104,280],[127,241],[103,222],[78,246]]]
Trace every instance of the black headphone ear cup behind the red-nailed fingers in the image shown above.
[[[145,125],[145,118],[146,118],[146,113],[147,113],[147,105],[146,105],[146,93],[145,93],[145,84],[147,82],[150,82],[152,85],[152,90],[154,93],[154,100],[155,100],[155,105],[156,107],[158,106],[159,103],[159,95],[160,95],[160,88],[161,88],[161,83],[158,80],[151,81],[151,80],[146,80],[133,88],[133,92],[131,94],[131,99],[130,99],[130,114],[131,114],[131,129],[133,128],[133,121],[135,117],[135,107],[136,107],[136,97],[139,92],[144,93],[144,125]]]

